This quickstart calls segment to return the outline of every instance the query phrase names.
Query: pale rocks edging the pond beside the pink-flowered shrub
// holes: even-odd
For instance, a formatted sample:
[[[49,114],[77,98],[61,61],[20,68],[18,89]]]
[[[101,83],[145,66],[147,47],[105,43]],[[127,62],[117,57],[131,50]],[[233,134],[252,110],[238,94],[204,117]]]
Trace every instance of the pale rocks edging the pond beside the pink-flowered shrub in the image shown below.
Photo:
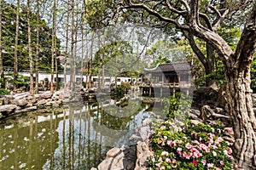
[[[108,150],[106,158],[97,167],[91,167],[90,170],[147,169],[148,156],[150,156],[148,142],[150,136],[154,133],[154,122],[163,122],[163,120],[144,119],[142,125],[137,127],[136,133],[131,135],[128,145],[121,148],[113,147]]]

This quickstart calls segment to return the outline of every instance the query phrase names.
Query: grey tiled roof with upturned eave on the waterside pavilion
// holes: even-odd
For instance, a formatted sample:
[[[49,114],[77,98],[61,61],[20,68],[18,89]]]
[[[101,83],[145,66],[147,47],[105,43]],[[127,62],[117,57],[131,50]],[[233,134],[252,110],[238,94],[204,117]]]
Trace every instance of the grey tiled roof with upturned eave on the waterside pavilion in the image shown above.
[[[144,71],[149,73],[154,72],[165,72],[165,71],[190,71],[191,66],[188,62],[180,62],[180,63],[166,63],[166,64],[158,64],[153,69],[144,69]]]

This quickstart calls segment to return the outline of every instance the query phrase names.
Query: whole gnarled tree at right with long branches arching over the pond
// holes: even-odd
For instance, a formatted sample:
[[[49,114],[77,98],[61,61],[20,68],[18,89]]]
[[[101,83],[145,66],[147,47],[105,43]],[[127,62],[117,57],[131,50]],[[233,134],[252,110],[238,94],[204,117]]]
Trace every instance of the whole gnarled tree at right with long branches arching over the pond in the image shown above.
[[[127,21],[143,21],[143,24],[150,26],[183,31],[192,40],[192,43],[189,41],[191,47],[195,37],[212,46],[225,65],[226,96],[235,133],[234,150],[238,166],[245,169],[256,167],[256,117],[250,88],[250,66],[256,48],[256,1],[106,0],[101,3],[91,2],[91,6],[101,9],[89,16],[92,27],[101,25],[100,21],[103,22],[101,26],[106,26],[113,23],[109,20],[123,16]],[[109,12],[109,8],[113,8],[113,13]],[[106,17],[106,14],[109,16]],[[244,16],[247,20],[243,22],[240,40],[233,50],[217,29],[223,21],[231,25],[236,17],[240,20]],[[197,57],[200,58],[199,54]],[[205,60],[206,63],[211,62],[211,59]]]

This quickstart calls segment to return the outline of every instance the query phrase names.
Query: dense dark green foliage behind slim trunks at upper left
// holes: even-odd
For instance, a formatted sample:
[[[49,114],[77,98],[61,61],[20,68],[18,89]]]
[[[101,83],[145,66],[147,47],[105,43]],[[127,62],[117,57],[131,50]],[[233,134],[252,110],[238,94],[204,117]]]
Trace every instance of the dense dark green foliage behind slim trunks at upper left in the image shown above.
[[[29,68],[28,59],[28,37],[27,37],[27,8],[25,5],[20,5],[20,31],[18,39],[18,68],[24,70]],[[14,67],[14,55],[15,55],[15,19],[16,19],[16,6],[15,4],[3,3],[3,66]],[[52,30],[46,25],[46,21],[38,20],[37,15],[30,12],[31,18],[31,30],[32,30],[32,53],[36,54],[37,48],[39,48],[39,61],[38,66],[41,70],[50,70],[51,63],[51,33]],[[39,28],[39,29],[38,29]],[[36,30],[39,31],[39,46],[36,44]],[[57,53],[60,52],[60,40],[57,39]]]

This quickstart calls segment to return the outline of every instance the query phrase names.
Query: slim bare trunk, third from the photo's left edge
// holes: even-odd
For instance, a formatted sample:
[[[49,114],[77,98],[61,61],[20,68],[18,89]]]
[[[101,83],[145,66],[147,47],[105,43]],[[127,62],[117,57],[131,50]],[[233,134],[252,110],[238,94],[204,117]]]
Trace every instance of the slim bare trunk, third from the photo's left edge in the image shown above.
[[[29,83],[29,92],[34,94],[34,84],[33,84],[33,58],[32,58],[32,37],[31,37],[31,22],[30,22],[30,0],[26,1],[27,4],[27,35],[28,35],[28,55],[29,55],[29,74],[30,74],[30,83]]]

